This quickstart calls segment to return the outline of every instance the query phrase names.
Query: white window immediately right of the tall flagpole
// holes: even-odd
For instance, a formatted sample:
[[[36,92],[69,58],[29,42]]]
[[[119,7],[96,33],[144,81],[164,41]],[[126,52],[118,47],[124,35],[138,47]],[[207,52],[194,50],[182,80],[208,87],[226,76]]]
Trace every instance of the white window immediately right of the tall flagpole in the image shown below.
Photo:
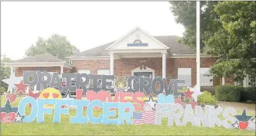
[[[207,70],[207,73],[210,75],[209,77],[208,76],[205,76],[203,74],[202,71],[205,71],[204,69],[208,69]],[[209,67],[200,67],[200,86],[213,86],[213,75],[211,73],[209,73]],[[211,82],[210,82],[211,80]],[[207,83],[207,81],[209,83]]]

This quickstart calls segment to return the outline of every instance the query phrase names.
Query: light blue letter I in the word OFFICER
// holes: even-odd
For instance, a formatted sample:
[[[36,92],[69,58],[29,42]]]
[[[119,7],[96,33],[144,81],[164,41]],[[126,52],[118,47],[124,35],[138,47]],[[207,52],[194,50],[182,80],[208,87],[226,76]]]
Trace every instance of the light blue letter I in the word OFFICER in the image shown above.
[[[88,106],[89,100],[73,100],[73,106],[76,106],[76,116],[70,117],[70,123],[88,123],[88,117],[82,117],[84,106]]]

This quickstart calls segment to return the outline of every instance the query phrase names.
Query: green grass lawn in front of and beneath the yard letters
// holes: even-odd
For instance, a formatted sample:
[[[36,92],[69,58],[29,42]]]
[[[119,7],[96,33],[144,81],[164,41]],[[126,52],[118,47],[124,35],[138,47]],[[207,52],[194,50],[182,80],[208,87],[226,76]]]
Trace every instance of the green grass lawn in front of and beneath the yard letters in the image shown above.
[[[19,105],[20,98],[12,106]],[[1,96],[1,106],[6,100]],[[27,108],[26,114],[31,109]],[[102,110],[95,111],[97,116]],[[237,110],[241,114],[241,110]],[[75,110],[70,110],[69,115],[61,116],[61,123],[53,123],[53,115],[45,114],[45,123],[11,123],[1,124],[1,135],[255,135],[255,131],[240,131],[225,129],[224,127],[193,127],[190,123],[186,126],[168,126],[167,119],[162,119],[162,125],[102,125],[102,124],[70,124],[70,116],[75,116]],[[247,113],[254,115],[253,113]],[[84,116],[86,111],[84,111]],[[223,117],[220,117],[223,119]]]

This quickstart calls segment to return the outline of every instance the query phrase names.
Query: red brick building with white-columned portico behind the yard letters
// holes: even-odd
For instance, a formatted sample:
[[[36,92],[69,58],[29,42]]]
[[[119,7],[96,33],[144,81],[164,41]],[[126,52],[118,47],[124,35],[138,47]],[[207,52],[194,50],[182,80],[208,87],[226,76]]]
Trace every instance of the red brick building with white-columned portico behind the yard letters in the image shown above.
[[[17,77],[22,76],[24,70],[47,70],[59,73],[185,79],[187,86],[195,86],[195,51],[180,44],[178,38],[178,36],[150,36],[137,27],[119,40],[68,57],[69,63],[45,53],[12,61],[8,65],[15,69]],[[209,73],[209,67],[215,62],[214,57],[201,54],[200,62],[201,87],[212,88],[224,84],[224,81],[225,84],[234,84],[231,78],[221,79]],[[249,78],[247,77],[239,85],[248,86]],[[255,77],[252,80],[255,84]]]

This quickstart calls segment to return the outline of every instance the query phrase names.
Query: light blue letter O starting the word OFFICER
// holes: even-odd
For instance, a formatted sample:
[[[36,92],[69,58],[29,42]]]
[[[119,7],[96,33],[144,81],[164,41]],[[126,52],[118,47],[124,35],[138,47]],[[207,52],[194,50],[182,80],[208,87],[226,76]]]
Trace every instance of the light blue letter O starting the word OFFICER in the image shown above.
[[[25,106],[27,104],[31,104],[32,107],[32,111],[31,114],[29,116],[25,115]],[[38,112],[38,105],[37,105],[37,100],[35,100],[35,98],[28,96],[28,97],[24,97],[21,102],[19,102],[19,114],[21,116],[25,116],[23,118],[23,122],[32,122],[36,117],[37,117],[37,112]]]

